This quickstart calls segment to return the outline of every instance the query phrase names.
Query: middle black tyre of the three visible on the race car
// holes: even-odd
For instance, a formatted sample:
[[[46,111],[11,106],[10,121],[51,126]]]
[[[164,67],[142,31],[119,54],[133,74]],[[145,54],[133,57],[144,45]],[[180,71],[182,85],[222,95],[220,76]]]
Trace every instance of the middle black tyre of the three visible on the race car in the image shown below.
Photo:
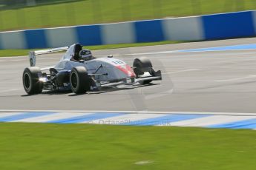
[[[70,72],[70,87],[72,92],[83,94],[90,89],[91,77],[85,67],[73,67]]]

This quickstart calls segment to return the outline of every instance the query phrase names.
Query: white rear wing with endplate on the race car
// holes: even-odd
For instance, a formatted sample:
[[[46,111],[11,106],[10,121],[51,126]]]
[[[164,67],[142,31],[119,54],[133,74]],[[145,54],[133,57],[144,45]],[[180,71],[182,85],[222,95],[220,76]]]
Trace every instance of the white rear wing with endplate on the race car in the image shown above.
[[[43,54],[50,54],[53,52],[62,52],[67,51],[69,47],[60,47],[60,48],[53,48],[48,50],[37,50],[37,51],[30,51],[29,57],[30,57],[30,67],[36,66],[36,55],[43,55]]]

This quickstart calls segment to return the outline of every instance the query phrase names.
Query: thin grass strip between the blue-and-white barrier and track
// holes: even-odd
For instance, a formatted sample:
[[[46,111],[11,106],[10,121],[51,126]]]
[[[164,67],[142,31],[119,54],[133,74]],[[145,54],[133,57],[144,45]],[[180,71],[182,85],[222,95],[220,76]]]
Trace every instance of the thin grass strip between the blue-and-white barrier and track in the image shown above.
[[[105,50],[105,49],[115,49],[115,48],[125,48],[125,47],[142,47],[142,46],[154,46],[162,44],[176,44],[183,41],[160,41],[160,42],[149,42],[149,43],[134,43],[134,44],[108,44],[108,45],[98,45],[98,46],[86,46],[90,50]],[[28,55],[30,50],[0,50],[0,57],[11,57],[11,56],[24,56]]]

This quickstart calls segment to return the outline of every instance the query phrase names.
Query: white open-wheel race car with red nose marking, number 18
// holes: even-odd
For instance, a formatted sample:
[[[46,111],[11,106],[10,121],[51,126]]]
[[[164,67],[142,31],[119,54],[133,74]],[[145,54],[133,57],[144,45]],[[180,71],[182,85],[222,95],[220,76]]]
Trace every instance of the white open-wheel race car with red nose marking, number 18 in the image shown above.
[[[73,61],[72,58],[82,50],[80,44],[51,50],[30,52],[30,67],[24,69],[22,80],[24,90],[29,95],[39,94],[42,90],[72,90],[76,94],[116,87],[120,84],[150,84],[162,79],[161,71],[154,71],[148,58],[134,59],[133,67],[124,61],[108,56]],[[67,51],[62,59],[47,69],[36,67],[36,55]]]

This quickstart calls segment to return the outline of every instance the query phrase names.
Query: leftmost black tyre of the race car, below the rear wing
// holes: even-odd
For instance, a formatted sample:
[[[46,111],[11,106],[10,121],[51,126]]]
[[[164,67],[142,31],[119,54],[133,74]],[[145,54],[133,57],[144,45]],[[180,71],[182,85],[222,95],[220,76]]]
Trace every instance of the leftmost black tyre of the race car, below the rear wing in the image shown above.
[[[27,67],[24,69],[22,81],[24,90],[28,95],[36,95],[42,92],[43,83],[39,81],[42,71],[39,67]]]

